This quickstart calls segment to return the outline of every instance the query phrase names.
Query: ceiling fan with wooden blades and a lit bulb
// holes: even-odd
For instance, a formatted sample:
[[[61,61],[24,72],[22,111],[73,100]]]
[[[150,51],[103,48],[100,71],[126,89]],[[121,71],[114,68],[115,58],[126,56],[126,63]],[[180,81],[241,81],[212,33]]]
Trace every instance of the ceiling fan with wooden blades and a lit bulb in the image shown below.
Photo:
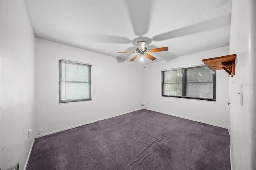
[[[160,51],[168,51],[168,47],[161,47],[161,48],[154,48],[154,49],[147,49],[145,47],[145,42],[144,41],[137,41],[138,43],[138,48],[136,51],[126,51],[126,52],[117,52],[117,53],[139,53],[135,55],[130,61],[133,61],[136,59],[139,55],[144,55],[148,59],[151,59],[152,61],[156,59],[156,57],[153,57],[149,53],[155,53],[155,52],[160,52]]]

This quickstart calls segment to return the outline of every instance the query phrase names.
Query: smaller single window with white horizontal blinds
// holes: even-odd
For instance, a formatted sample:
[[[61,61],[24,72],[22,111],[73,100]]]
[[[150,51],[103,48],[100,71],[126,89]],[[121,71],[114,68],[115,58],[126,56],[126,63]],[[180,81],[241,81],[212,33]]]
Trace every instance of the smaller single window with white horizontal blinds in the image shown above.
[[[59,103],[92,99],[91,67],[59,59]]]

